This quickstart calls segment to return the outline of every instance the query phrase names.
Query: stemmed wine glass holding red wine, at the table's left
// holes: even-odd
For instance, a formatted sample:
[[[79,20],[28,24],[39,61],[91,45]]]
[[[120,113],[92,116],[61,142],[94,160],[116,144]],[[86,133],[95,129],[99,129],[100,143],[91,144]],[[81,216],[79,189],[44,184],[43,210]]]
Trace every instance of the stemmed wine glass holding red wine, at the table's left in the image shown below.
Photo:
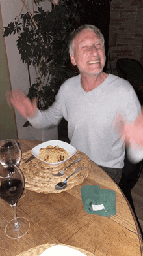
[[[24,176],[16,165],[0,169],[0,197],[12,206],[14,219],[6,225],[6,235],[9,238],[21,238],[29,231],[30,223],[25,217],[16,216],[16,204],[23,193]]]

